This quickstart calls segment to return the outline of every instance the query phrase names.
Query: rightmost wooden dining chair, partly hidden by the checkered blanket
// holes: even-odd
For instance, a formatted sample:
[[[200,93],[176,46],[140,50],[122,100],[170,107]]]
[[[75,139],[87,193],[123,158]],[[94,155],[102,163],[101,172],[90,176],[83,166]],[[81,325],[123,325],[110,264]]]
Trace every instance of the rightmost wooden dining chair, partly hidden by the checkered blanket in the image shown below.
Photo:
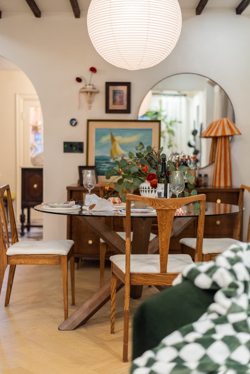
[[[243,206],[243,194],[244,190],[249,191],[250,187],[245,186],[244,184],[240,187],[240,194],[238,199],[238,206]],[[237,214],[235,218],[235,227],[233,237],[220,237],[220,238],[204,238],[202,245],[202,261],[213,260],[218,254],[225,251],[232,244],[237,244],[240,240],[240,230],[241,230],[242,214]],[[248,222],[247,230],[247,242],[250,242],[250,215]],[[193,237],[184,237],[180,239],[182,244],[182,251],[187,247],[188,249],[195,249],[195,238]]]

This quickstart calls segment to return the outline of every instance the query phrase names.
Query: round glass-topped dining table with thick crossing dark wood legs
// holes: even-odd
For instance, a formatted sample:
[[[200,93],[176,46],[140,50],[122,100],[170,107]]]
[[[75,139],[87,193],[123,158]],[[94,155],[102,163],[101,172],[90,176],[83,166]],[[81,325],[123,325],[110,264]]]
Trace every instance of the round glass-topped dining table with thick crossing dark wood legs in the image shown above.
[[[114,211],[95,211],[85,210],[82,208],[83,202],[79,201],[79,209],[44,209],[41,205],[36,205],[34,209],[39,212],[49,214],[59,214],[67,216],[76,216],[84,222],[88,229],[95,232],[101,239],[110,245],[117,254],[125,254],[125,240],[122,239],[114,230],[108,226],[103,217],[124,217],[125,212]],[[174,219],[171,231],[171,237],[182,232],[195,218],[199,215],[199,209],[195,209],[194,203],[182,207],[183,213],[176,213],[178,219]],[[206,202],[205,217],[222,216],[228,214],[240,214],[244,211],[243,207],[231,204]],[[149,242],[151,225],[153,219],[157,217],[155,212],[134,213],[133,216],[133,240],[131,253],[153,254],[159,249],[158,235]],[[181,220],[179,218],[182,218]],[[68,238],[70,239],[70,238]],[[83,303],[74,313],[72,313],[58,328],[60,330],[73,330],[85,324],[94,313],[96,313],[110,299],[110,280],[98,289],[85,303]],[[123,283],[117,280],[117,290],[122,288]],[[138,298],[141,296],[142,286],[131,286],[131,297]]]

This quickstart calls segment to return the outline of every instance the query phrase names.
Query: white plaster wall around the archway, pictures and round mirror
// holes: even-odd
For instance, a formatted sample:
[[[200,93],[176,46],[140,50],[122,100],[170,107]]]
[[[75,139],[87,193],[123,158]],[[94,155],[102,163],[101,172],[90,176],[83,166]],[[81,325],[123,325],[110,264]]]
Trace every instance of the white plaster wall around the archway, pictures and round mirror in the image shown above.
[[[146,92],[156,82],[177,73],[198,73],[217,82],[226,91],[235,110],[236,125],[243,136],[232,143],[233,182],[250,184],[249,82],[250,19],[235,10],[205,9],[201,16],[184,17],[179,42],[155,67],[126,71],[104,61],[92,46],[86,14],[74,19],[71,13],[6,14],[0,22],[0,55],[18,65],[33,82],[44,119],[44,199],[65,200],[66,186],[77,181],[77,166],[84,154],[64,154],[63,141],[84,141],[87,119],[135,119]],[[97,68],[92,82],[100,90],[92,110],[83,104],[77,110],[79,75]],[[131,114],[105,114],[105,82],[131,82]],[[78,125],[69,125],[75,117]],[[249,196],[245,206],[250,207]],[[64,238],[64,217],[44,214],[44,238]],[[246,214],[245,224],[248,218]],[[245,230],[246,232],[246,230]]]

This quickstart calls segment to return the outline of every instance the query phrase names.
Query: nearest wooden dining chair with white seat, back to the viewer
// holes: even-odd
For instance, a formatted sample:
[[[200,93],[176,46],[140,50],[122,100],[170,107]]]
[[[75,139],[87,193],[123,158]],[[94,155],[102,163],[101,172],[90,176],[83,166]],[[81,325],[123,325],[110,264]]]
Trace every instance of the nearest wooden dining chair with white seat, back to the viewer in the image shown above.
[[[156,209],[159,232],[159,254],[138,255],[131,254],[131,200],[144,202]],[[115,331],[115,302],[116,279],[125,283],[124,301],[124,343],[123,361],[128,360],[128,321],[129,321],[129,295],[131,285],[168,285],[170,286],[176,276],[187,265],[192,264],[192,258],[186,254],[168,254],[170,234],[176,209],[191,202],[200,202],[198,228],[196,238],[196,261],[201,261],[202,239],[205,218],[204,194],[180,199],[153,199],[150,197],[127,194],[126,196],[126,254],[110,257],[111,264],[111,334]],[[181,218],[178,218],[181,219]],[[132,270],[131,270],[132,269]]]

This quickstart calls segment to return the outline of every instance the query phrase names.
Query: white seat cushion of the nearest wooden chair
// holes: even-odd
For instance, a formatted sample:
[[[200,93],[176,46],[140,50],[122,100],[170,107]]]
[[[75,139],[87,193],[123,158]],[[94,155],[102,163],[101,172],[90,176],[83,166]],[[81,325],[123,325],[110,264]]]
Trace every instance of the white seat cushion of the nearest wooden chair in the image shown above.
[[[125,255],[114,255],[110,257],[122,272],[125,273]],[[176,254],[168,255],[167,272],[179,273],[189,264],[193,264],[193,260],[189,255]],[[160,257],[159,255],[131,255],[130,257],[131,273],[160,273]]]

